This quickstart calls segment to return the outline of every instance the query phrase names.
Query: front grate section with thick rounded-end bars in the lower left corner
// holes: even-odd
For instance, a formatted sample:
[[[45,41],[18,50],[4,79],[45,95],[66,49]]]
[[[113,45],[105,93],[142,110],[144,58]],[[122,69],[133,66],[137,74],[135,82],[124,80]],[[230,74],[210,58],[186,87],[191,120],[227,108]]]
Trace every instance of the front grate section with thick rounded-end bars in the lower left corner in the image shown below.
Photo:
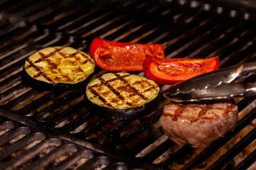
[[[1,169],[154,169],[129,162],[130,158],[114,158],[92,145],[94,149],[89,149],[74,142],[75,138],[65,140],[50,128],[10,120],[2,116],[5,113],[0,111]]]

